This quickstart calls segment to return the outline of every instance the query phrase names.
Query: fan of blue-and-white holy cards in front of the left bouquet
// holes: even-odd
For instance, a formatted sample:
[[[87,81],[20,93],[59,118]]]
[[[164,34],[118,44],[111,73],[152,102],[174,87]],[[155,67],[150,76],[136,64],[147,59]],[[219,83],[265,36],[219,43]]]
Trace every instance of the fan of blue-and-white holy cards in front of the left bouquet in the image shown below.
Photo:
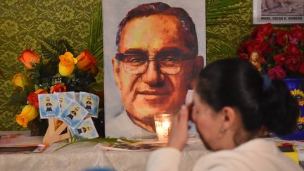
[[[39,94],[40,118],[56,118],[65,122],[71,134],[94,139],[99,137],[91,117],[97,118],[99,96],[73,91]]]

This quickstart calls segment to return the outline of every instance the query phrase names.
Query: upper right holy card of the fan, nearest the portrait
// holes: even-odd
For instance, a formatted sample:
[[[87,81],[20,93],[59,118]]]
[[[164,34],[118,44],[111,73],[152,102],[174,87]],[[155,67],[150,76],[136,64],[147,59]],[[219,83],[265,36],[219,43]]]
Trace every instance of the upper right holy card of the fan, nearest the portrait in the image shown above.
[[[87,92],[80,92],[80,104],[89,111],[89,114],[97,118],[99,109],[99,96]]]

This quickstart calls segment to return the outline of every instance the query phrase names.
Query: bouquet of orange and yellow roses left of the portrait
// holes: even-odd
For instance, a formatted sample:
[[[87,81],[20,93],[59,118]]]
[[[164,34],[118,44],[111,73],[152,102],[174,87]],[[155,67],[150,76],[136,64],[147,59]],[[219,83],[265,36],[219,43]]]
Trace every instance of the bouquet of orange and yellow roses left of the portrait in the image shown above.
[[[29,125],[31,135],[44,135],[48,126],[46,120],[39,118],[38,94],[90,92],[99,72],[96,58],[89,51],[75,56],[65,39],[46,39],[41,48],[41,55],[31,49],[22,52],[18,61],[25,65],[26,72],[17,73],[12,79],[16,89],[10,104],[23,107],[16,122],[23,127]]]

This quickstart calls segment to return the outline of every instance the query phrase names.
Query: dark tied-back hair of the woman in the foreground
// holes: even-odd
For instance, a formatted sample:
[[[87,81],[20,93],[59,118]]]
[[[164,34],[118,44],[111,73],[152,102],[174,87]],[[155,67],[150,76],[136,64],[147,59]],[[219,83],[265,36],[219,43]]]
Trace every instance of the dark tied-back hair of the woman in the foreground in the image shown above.
[[[207,65],[196,92],[216,112],[224,106],[239,110],[248,132],[264,125],[277,134],[289,134],[300,114],[298,102],[283,80],[263,79],[251,63],[240,58]]]

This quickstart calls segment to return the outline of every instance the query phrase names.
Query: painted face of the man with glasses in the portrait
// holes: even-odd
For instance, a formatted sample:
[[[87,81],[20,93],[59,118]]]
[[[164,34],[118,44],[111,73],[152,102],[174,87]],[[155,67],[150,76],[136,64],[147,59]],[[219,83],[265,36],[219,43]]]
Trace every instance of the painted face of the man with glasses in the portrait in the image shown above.
[[[190,50],[185,46],[180,24],[175,16],[150,15],[129,21],[122,30],[118,53],[148,58],[141,70],[126,68],[124,61],[115,59],[113,62],[122,101],[136,120],[153,124],[153,115],[176,113],[184,103],[192,80],[194,60],[181,61],[178,71],[174,68],[165,70],[164,61],[160,60],[163,56],[189,56]],[[174,58],[165,60],[175,62]],[[141,59],[130,58],[129,61],[140,63]]]

